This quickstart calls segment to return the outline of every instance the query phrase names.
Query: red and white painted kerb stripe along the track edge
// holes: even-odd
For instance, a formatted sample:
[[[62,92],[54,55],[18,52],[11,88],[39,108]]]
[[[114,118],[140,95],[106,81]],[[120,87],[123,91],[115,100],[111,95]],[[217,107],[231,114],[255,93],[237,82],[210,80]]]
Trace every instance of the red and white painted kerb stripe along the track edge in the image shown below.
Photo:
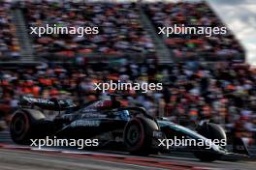
[[[1,146],[1,145],[0,145]],[[24,147],[24,146],[16,146],[16,145],[2,145],[3,149],[9,149],[12,151],[19,150],[19,151],[26,151],[26,152],[36,152],[39,154],[45,155],[53,155],[53,156],[68,156],[68,157],[77,157],[77,158],[92,158],[96,160],[104,160],[109,162],[115,163],[124,163],[130,165],[139,165],[144,167],[154,167],[154,168],[163,168],[163,169],[172,169],[172,170],[185,170],[191,169],[197,170],[204,169],[204,170],[211,170],[210,167],[198,167],[194,166],[190,163],[177,163],[173,160],[161,160],[159,161],[153,157],[141,157],[141,156],[127,156],[127,155],[117,155],[117,154],[106,154],[101,152],[76,152],[76,151],[69,151],[64,149],[51,149],[51,148],[43,148],[37,149],[32,147]]]

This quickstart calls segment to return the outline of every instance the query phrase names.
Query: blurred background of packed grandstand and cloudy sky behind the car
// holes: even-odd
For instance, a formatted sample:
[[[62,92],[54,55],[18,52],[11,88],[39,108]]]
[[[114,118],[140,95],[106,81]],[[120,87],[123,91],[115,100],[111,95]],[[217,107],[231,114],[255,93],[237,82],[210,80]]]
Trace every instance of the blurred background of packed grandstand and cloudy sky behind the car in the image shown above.
[[[228,1],[0,0],[0,129],[20,96],[106,98],[93,83],[162,82],[163,91],[128,91],[142,105],[186,127],[202,119],[229,135],[256,136],[256,3]],[[30,26],[99,26],[99,35],[30,35]],[[159,36],[174,24],[227,26],[227,35]],[[49,113],[50,116],[50,113]]]

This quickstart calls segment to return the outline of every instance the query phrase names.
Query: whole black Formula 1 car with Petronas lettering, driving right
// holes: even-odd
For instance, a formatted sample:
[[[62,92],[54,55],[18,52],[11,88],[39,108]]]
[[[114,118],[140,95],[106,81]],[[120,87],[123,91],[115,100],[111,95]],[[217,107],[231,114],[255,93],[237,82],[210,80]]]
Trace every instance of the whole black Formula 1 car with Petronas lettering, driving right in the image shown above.
[[[69,139],[97,139],[98,147],[118,143],[132,155],[147,156],[168,152],[173,139],[201,141],[200,146],[186,146],[203,161],[213,161],[223,155],[248,156],[240,139],[235,140],[234,152],[225,149],[226,134],[219,125],[202,122],[197,131],[178,126],[166,118],[153,118],[143,107],[123,107],[111,95],[111,99],[90,101],[78,106],[70,100],[37,99],[22,97],[11,121],[11,137],[17,144],[30,144],[31,139],[47,136]],[[58,111],[48,120],[44,110]],[[208,140],[211,139],[211,140]],[[224,141],[218,145],[212,140]],[[114,145],[117,146],[117,145]],[[183,147],[183,146],[182,146]],[[181,148],[182,148],[181,147]]]

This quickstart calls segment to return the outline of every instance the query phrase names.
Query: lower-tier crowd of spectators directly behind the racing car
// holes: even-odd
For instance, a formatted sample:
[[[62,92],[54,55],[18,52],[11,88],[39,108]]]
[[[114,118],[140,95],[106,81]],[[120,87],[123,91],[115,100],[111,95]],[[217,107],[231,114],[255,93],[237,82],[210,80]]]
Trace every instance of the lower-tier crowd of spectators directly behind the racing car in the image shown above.
[[[94,91],[95,82],[162,82],[162,91],[129,91],[121,99],[124,105],[142,105],[153,116],[166,116],[181,125],[193,127],[202,119],[211,119],[226,128],[255,131],[256,70],[249,66],[215,64],[173,64],[157,66],[154,60],[144,64],[122,61],[115,66],[60,66],[1,71],[1,114],[15,109],[18,97],[74,99],[80,104],[106,98]],[[127,93],[127,92],[126,92]]]

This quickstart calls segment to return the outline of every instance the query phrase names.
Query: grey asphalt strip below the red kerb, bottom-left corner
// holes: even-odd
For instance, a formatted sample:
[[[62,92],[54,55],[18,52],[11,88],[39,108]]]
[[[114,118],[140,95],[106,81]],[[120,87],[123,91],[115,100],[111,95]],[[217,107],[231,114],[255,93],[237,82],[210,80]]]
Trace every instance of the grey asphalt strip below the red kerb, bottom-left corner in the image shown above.
[[[0,149],[1,170],[163,170],[90,158]]]

